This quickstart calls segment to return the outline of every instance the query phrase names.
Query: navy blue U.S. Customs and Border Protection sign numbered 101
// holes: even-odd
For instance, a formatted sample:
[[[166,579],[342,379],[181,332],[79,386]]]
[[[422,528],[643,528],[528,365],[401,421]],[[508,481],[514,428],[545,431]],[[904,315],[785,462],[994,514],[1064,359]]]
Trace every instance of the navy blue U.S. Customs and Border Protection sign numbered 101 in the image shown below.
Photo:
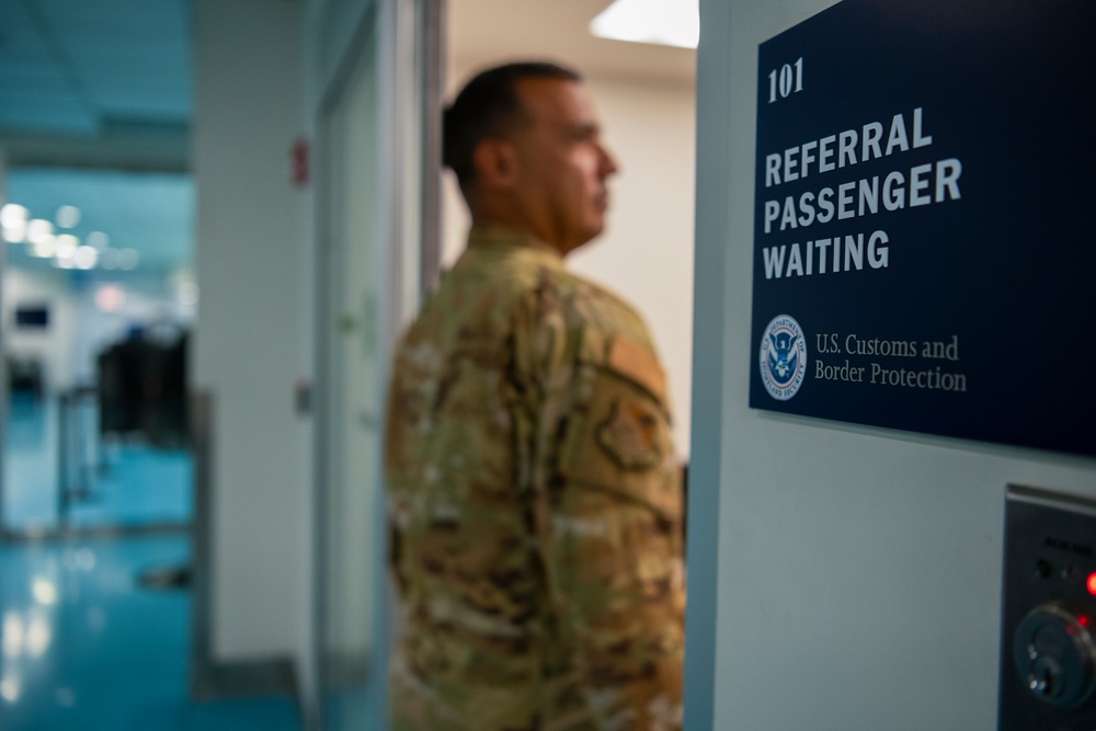
[[[1096,2],[762,44],[750,406],[1096,454]]]

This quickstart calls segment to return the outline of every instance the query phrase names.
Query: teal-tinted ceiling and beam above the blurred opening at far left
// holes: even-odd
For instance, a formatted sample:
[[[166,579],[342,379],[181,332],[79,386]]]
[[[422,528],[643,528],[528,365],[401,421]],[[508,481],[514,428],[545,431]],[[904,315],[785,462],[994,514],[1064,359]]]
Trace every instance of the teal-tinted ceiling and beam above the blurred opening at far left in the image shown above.
[[[191,98],[191,0],[0,2],[10,164],[178,169]]]

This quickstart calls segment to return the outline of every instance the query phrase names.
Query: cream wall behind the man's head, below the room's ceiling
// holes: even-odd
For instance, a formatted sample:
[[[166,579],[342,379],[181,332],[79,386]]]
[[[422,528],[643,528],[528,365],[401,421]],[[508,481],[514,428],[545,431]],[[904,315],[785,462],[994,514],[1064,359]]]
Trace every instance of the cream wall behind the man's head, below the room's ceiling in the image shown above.
[[[457,67],[452,94],[481,68]],[[695,94],[692,85],[586,75],[620,172],[606,232],[568,258],[647,319],[670,379],[674,438],[688,456],[693,358]],[[468,215],[446,173],[443,265],[464,249]]]

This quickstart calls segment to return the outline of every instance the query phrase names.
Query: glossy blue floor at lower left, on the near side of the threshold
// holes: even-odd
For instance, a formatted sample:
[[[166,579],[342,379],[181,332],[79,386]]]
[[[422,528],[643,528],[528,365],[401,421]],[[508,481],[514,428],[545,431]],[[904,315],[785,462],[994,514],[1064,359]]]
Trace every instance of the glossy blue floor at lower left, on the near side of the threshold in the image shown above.
[[[290,698],[194,703],[190,593],[150,590],[185,535],[0,547],[0,729],[299,729]]]

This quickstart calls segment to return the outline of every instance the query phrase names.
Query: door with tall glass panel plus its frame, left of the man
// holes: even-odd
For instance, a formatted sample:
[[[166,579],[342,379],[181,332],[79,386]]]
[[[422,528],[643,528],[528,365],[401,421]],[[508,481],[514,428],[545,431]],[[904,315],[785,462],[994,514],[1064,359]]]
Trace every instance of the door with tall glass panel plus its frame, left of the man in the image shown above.
[[[383,728],[388,640],[381,443],[392,343],[433,278],[435,2],[369,5],[319,108],[318,723]]]

